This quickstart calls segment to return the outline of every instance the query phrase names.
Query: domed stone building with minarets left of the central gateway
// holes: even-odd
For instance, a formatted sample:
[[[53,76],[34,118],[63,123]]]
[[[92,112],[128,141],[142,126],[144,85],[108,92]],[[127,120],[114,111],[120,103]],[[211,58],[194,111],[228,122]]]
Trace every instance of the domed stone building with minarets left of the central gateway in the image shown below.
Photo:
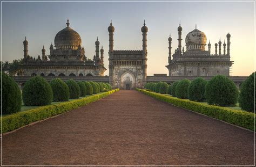
[[[56,34],[55,49],[50,45],[50,55],[45,55],[43,47],[42,58],[38,55],[35,59],[28,55],[28,41],[25,39],[23,76],[104,76],[104,50],[99,51],[98,37],[96,55],[93,60],[87,59],[80,35],[69,26],[69,20],[66,25]]]

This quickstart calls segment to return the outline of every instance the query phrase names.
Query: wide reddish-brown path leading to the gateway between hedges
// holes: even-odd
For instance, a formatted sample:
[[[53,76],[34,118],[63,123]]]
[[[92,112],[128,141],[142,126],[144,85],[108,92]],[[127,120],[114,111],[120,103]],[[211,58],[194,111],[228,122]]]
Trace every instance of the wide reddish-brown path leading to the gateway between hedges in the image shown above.
[[[3,165],[253,165],[254,133],[119,91],[3,136]]]

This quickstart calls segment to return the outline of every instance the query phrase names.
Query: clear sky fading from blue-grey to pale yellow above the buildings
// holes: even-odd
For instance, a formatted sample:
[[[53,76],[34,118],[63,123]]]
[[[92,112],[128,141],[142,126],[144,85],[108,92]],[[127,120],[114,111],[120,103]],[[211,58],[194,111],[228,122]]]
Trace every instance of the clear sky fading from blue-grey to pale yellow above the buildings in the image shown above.
[[[29,42],[29,55],[46,55],[55,35],[66,27],[80,34],[85,56],[95,55],[96,37],[103,46],[104,75],[109,75],[109,34],[112,19],[114,49],[142,49],[144,19],[147,33],[147,75],[168,74],[168,38],[171,33],[172,53],[178,47],[179,22],[182,45],[186,34],[197,29],[203,31],[207,43],[226,40],[231,34],[232,76],[248,76],[255,70],[254,2],[2,2],[2,61],[23,58],[23,41]],[[206,46],[207,50],[207,46]],[[222,48],[223,52],[223,48]]]

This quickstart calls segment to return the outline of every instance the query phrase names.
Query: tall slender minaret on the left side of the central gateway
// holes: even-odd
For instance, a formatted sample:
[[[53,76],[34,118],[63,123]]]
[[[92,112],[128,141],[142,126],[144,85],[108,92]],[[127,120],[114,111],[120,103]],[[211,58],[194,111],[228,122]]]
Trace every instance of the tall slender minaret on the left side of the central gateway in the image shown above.
[[[107,30],[109,31],[109,84],[113,86],[113,61],[111,53],[114,47],[114,26],[112,26],[112,20],[110,20],[110,26]]]

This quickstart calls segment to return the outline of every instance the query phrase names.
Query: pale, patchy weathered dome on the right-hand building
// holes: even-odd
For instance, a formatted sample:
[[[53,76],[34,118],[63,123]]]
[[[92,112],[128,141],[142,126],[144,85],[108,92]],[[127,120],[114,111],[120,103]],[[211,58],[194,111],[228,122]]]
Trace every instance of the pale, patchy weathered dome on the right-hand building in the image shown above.
[[[185,39],[186,46],[190,50],[205,50],[206,41],[205,33],[198,29],[188,33]]]

